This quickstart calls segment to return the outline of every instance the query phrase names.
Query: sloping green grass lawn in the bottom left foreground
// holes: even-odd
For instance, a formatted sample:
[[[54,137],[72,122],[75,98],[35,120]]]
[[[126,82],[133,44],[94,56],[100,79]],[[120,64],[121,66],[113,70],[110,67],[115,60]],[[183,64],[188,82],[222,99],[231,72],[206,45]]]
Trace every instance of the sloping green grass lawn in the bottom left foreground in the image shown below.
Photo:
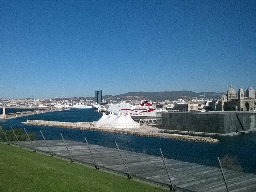
[[[0,191],[166,191],[0,143]]]

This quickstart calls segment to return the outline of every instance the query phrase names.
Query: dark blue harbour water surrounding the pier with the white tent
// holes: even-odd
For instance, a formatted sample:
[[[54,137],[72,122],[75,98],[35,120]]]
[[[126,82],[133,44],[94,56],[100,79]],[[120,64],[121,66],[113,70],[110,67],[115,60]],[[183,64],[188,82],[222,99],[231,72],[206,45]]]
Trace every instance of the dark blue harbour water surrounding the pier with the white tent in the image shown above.
[[[46,140],[61,139],[60,133],[68,140],[84,142],[84,137],[89,143],[115,148],[115,141],[120,149],[160,156],[159,148],[162,149],[164,157],[181,160],[185,162],[216,166],[217,157],[225,155],[237,156],[238,162],[244,172],[256,174],[256,132],[233,137],[215,137],[218,143],[203,143],[184,140],[173,140],[156,137],[140,137],[123,133],[107,133],[98,131],[84,131],[65,129],[57,127],[44,127],[21,124],[28,119],[86,122],[97,121],[102,114],[93,109],[70,109],[58,112],[36,114],[33,116],[19,117],[16,119],[0,120],[4,129],[25,128],[28,133],[35,133],[38,140],[42,140],[40,130],[44,133]]]

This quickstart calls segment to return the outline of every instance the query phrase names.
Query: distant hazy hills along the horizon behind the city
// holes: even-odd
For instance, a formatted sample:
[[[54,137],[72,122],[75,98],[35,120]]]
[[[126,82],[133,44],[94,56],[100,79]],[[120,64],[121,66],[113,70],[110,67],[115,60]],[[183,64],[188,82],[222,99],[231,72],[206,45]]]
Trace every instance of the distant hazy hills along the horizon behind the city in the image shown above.
[[[199,98],[212,98],[218,99],[224,92],[192,92],[192,91],[164,91],[164,92],[128,92],[120,95],[105,95],[102,99],[106,101],[110,100],[153,100],[153,101],[162,101],[162,100],[192,100]],[[63,98],[63,99],[72,99],[72,100],[86,100],[93,99],[95,97],[73,97],[73,98]],[[55,99],[54,99],[55,100]]]

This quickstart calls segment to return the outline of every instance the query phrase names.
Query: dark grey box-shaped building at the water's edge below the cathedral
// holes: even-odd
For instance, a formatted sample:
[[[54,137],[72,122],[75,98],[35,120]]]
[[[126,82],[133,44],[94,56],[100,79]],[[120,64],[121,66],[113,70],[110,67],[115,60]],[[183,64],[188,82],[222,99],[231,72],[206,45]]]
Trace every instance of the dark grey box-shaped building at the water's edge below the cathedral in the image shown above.
[[[242,131],[236,117],[239,117],[245,130],[250,129],[251,113],[233,112],[174,112],[162,114],[162,129],[230,133]]]

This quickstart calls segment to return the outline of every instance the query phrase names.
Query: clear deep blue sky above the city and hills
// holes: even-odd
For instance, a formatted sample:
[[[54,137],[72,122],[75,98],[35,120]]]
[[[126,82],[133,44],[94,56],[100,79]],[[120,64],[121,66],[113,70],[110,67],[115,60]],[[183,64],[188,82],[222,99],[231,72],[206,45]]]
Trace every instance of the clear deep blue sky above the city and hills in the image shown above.
[[[0,0],[0,98],[256,88],[256,1]]]

